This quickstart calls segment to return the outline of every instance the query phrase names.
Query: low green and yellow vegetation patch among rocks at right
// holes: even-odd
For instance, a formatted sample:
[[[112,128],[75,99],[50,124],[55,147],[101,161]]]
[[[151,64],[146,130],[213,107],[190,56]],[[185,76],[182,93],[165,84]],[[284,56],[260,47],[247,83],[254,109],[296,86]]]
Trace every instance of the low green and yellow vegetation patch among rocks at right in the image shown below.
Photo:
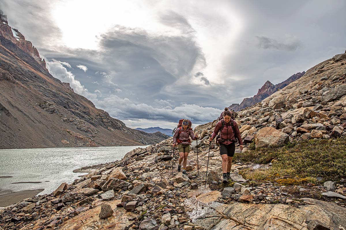
[[[309,140],[282,147],[254,148],[236,154],[234,162],[271,163],[268,169],[244,169],[246,179],[275,181],[282,185],[336,181],[346,177],[346,138]]]

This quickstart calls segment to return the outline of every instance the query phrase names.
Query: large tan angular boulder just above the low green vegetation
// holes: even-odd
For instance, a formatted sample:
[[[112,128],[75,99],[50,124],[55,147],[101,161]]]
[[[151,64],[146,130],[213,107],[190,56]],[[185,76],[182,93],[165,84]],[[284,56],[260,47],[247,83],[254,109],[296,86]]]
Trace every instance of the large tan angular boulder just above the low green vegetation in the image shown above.
[[[273,127],[265,127],[260,129],[255,136],[255,146],[281,146],[288,143],[289,136],[286,133],[280,132]]]

